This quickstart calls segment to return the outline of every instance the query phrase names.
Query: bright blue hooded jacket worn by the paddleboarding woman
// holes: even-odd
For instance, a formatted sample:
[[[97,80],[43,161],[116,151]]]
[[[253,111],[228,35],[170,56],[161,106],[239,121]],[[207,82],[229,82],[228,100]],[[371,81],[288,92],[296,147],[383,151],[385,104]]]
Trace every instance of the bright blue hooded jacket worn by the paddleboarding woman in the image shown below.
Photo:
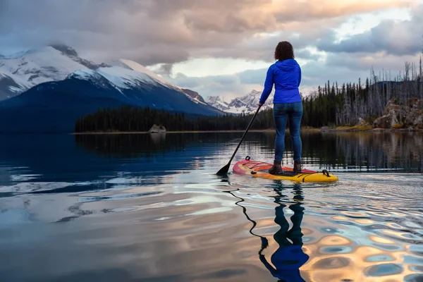
[[[295,59],[276,61],[267,70],[260,103],[264,104],[275,85],[274,103],[301,102],[301,68]]]

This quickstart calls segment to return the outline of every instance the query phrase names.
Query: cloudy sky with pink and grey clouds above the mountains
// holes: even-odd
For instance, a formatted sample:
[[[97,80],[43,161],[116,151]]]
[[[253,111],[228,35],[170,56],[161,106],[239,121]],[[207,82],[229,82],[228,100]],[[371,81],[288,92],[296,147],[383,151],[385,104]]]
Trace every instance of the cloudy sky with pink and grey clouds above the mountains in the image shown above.
[[[301,90],[419,62],[423,0],[0,0],[0,54],[59,42],[130,59],[203,97],[262,90],[288,40]]]

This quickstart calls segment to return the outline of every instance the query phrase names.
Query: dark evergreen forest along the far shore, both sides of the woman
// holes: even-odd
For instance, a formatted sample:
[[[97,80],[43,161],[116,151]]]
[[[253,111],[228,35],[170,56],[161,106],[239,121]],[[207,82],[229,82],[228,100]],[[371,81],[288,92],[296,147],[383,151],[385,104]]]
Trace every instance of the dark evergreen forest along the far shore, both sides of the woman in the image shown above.
[[[304,114],[302,126],[357,125],[360,119],[372,123],[384,115],[389,101],[404,107],[419,101],[423,109],[422,58],[419,66],[405,63],[405,71],[391,77],[388,71],[379,75],[370,71],[364,82],[344,83],[327,81],[316,91],[302,97]],[[223,116],[192,117],[149,107],[121,106],[118,109],[99,109],[78,118],[75,132],[133,132],[147,131],[152,125],[164,125],[167,131],[181,130],[245,130],[254,114],[225,114]],[[288,124],[287,124],[288,126]],[[274,128],[273,110],[259,111],[251,129]]]

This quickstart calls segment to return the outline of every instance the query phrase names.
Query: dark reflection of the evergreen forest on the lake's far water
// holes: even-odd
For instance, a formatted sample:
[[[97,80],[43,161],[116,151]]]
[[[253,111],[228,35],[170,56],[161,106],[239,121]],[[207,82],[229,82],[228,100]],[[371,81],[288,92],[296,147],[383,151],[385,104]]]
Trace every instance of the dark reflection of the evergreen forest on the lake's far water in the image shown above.
[[[78,147],[103,157],[149,157],[165,151],[180,151],[185,147],[227,151],[228,142],[240,140],[243,133],[166,133],[162,134],[110,134],[75,135]],[[270,133],[248,133],[243,147],[249,154],[260,145],[274,152],[274,136]],[[234,143],[235,144],[235,143]],[[284,163],[292,162],[292,144],[286,134]],[[235,145],[234,145],[235,146]],[[212,152],[209,152],[212,154]],[[213,154],[219,154],[215,151]],[[239,153],[238,153],[239,154]],[[252,156],[254,158],[254,156]],[[423,172],[422,133],[315,133],[302,132],[302,159],[307,166],[326,169],[343,168],[372,170],[375,168]]]

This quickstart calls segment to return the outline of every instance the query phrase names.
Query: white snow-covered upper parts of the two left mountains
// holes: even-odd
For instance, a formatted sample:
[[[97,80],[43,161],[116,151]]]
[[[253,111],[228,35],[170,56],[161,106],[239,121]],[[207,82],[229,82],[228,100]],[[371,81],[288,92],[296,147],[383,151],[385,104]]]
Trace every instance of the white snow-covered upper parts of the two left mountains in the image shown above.
[[[183,92],[186,97],[197,104],[209,106],[197,92],[167,82],[140,63],[116,59],[107,64],[97,64],[81,58],[75,49],[63,44],[54,44],[42,49],[31,49],[11,56],[0,55],[0,101],[21,94],[42,82],[63,80],[78,70],[97,70],[99,68],[105,70],[109,66],[119,66],[137,72],[125,77],[122,71],[119,74],[113,73],[116,70],[107,69],[111,73],[104,73],[104,75],[109,75],[111,80],[123,79],[120,83],[131,85],[131,83],[134,84],[134,82],[131,82],[133,78],[140,80],[142,77],[141,80],[145,80],[146,83],[154,82],[170,87],[173,90]],[[119,75],[123,76],[120,77]]]

